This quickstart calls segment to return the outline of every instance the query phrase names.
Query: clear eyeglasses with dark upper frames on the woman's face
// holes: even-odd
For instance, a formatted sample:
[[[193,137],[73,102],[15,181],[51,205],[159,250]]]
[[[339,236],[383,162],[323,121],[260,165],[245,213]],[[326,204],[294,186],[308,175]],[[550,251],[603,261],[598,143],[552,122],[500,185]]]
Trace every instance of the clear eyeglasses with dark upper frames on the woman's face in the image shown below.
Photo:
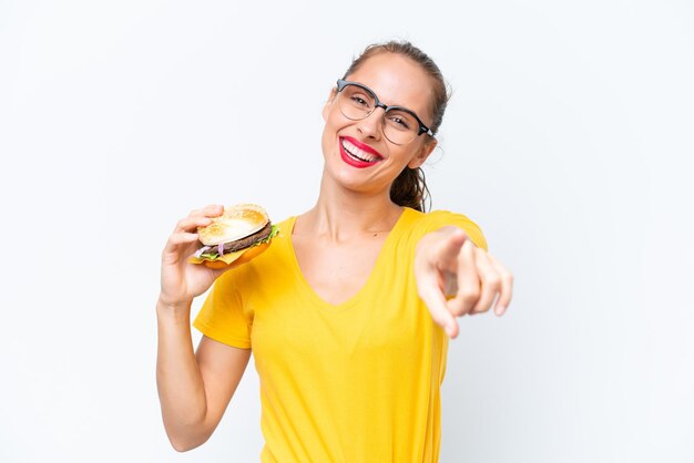
[[[377,107],[382,107],[384,135],[396,145],[408,144],[422,133],[433,136],[417,114],[407,107],[385,105],[371,89],[357,82],[337,81],[337,106],[345,117],[353,121],[366,119]]]

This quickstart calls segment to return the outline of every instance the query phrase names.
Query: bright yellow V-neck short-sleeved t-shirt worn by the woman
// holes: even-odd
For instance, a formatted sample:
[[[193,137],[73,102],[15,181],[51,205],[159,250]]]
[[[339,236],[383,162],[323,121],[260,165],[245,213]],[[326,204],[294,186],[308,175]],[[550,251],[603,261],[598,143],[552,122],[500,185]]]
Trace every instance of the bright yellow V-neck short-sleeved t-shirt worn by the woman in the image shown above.
[[[215,282],[194,326],[252,348],[261,383],[262,462],[437,462],[448,337],[417,294],[415,247],[428,232],[479,227],[449,212],[406,208],[371,275],[334,306],[304,279],[295,217],[271,247]]]

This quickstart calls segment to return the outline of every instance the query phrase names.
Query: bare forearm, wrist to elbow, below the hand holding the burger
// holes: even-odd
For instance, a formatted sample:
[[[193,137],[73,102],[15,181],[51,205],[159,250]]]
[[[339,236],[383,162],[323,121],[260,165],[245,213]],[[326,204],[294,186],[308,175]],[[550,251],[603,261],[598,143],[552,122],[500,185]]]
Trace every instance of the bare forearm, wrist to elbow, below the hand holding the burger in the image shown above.
[[[195,447],[208,438],[205,385],[195,359],[190,306],[156,306],[159,346],[156,384],[169,439],[178,450]]]

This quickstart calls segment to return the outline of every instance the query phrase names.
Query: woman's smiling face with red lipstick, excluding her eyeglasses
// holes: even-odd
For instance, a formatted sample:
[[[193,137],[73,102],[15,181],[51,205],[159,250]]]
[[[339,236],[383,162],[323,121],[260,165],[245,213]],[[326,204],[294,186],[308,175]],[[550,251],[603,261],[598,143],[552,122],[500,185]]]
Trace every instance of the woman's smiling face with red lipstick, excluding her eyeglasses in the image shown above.
[[[348,75],[374,91],[388,106],[404,106],[430,126],[431,78],[415,61],[395,53],[379,53]],[[436,141],[427,135],[397,145],[384,136],[384,110],[377,107],[366,119],[347,119],[339,110],[335,91],[323,110],[324,176],[339,185],[367,194],[382,194],[405,167],[419,167]]]

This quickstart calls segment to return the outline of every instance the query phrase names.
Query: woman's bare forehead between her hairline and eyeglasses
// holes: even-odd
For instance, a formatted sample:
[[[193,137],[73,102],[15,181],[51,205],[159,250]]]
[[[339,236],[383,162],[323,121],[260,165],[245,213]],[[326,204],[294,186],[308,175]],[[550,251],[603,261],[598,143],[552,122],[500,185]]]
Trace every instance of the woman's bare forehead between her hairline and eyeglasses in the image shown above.
[[[367,59],[347,80],[367,85],[385,104],[405,106],[429,119],[431,79],[407,56],[379,53]]]

